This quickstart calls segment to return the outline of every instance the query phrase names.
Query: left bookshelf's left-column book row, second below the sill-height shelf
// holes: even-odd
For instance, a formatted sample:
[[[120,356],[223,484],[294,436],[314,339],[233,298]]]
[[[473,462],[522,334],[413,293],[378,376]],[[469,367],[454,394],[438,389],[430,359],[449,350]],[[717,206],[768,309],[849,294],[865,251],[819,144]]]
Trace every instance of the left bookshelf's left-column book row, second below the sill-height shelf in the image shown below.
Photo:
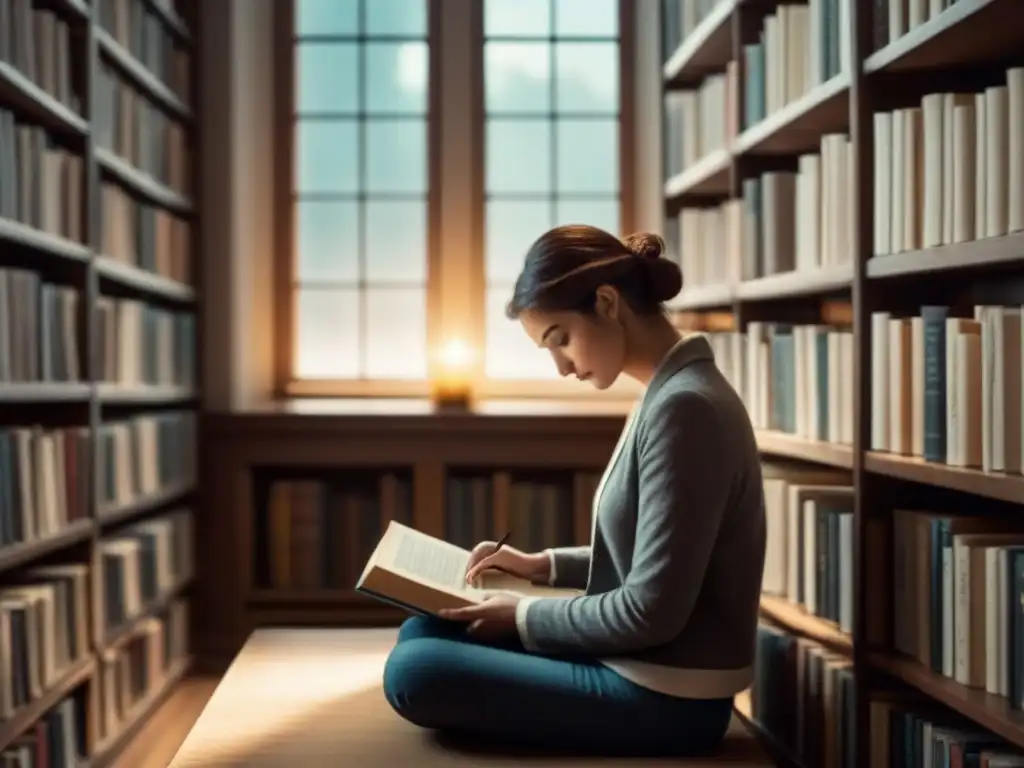
[[[89,568],[46,565],[0,588],[0,721],[40,698],[89,653]]]

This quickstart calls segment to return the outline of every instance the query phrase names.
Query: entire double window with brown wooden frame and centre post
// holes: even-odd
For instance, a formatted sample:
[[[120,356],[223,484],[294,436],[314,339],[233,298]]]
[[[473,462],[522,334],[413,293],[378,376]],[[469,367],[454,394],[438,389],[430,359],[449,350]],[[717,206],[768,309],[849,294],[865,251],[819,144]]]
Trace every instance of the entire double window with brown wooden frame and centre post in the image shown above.
[[[461,338],[481,394],[550,391],[505,305],[546,229],[628,225],[632,4],[280,1],[279,388],[425,394]]]

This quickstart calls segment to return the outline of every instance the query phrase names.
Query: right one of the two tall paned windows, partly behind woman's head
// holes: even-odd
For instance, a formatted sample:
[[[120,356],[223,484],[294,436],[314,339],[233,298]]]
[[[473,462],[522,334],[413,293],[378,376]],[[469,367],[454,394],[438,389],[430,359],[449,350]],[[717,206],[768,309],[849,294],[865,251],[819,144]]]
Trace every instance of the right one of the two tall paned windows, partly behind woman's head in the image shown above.
[[[557,376],[505,305],[552,226],[621,233],[617,0],[485,0],[484,374]]]

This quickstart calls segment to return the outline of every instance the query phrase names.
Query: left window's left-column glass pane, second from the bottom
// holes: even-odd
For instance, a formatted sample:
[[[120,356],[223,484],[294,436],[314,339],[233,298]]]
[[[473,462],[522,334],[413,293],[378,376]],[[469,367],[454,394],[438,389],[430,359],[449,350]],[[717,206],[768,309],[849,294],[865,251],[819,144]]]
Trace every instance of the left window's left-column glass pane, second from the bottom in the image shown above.
[[[350,201],[303,201],[295,206],[301,283],[359,279],[359,209]]]

